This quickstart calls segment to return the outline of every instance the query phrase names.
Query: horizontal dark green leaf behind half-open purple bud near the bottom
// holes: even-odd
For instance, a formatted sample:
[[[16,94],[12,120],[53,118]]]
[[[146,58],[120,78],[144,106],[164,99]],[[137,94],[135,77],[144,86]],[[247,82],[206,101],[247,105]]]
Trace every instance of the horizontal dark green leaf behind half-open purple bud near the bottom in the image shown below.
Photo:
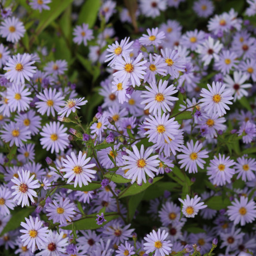
[[[107,215],[104,215],[104,218],[106,221],[104,224],[107,224],[107,222],[110,222],[113,219],[117,219],[120,215],[118,215],[116,212],[108,212]],[[86,229],[98,229],[100,226],[97,224],[97,214],[91,214],[87,215],[86,219],[78,220],[73,222],[76,230],[86,230]],[[72,224],[61,227],[61,229],[65,230],[72,230]]]

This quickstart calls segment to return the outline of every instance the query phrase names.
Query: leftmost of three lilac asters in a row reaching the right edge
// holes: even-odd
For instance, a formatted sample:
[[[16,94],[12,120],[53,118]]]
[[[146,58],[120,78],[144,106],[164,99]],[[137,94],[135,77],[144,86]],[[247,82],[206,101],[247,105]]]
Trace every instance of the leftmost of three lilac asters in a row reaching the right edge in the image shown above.
[[[181,153],[184,154],[177,155],[178,159],[182,159],[178,162],[181,164],[181,168],[185,167],[188,173],[197,173],[197,165],[203,169],[203,164],[206,162],[202,158],[208,158],[208,151],[201,150],[202,146],[202,143],[199,143],[199,141],[196,141],[194,145],[193,140],[187,142],[187,147],[182,146]]]

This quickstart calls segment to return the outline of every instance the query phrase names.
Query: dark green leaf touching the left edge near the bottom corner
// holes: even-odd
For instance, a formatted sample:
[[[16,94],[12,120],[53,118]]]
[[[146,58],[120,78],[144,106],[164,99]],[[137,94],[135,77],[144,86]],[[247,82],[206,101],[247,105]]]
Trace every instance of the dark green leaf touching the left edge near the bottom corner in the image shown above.
[[[11,219],[7,222],[6,226],[3,228],[1,232],[1,236],[9,231],[17,229],[17,227],[21,226],[21,222],[26,222],[25,217],[29,217],[31,212],[35,211],[35,208],[22,208],[20,210],[11,211]]]

